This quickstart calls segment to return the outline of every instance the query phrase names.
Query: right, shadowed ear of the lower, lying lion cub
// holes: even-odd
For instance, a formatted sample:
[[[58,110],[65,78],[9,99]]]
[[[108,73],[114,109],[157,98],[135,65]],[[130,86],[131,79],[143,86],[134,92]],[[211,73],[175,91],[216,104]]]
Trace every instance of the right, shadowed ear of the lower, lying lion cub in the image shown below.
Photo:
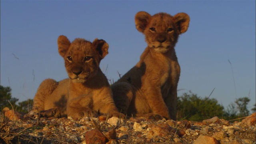
[[[96,50],[99,52],[101,59],[103,59],[108,54],[108,43],[105,40],[98,40],[96,38],[92,45],[96,47]]]

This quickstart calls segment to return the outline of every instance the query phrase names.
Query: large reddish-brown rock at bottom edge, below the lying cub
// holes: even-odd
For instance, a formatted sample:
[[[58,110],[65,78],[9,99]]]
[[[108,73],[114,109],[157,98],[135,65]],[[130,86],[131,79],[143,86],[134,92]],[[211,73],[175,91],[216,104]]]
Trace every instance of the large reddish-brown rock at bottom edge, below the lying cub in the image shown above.
[[[106,143],[106,137],[104,136],[104,134],[102,134],[102,132],[100,132],[97,129],[86,132],[84,137],[85,137],[86,144],[105,144]]]

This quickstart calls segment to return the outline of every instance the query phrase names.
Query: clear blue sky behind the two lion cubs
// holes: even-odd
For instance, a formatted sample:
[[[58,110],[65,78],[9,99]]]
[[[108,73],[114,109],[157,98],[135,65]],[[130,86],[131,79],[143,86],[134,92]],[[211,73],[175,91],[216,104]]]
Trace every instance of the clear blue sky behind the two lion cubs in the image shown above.
[[[104,39],[109,54],[100,68],[118,80],[146,48],[134,24],[139,11],[190,16],[176,44],[181,67],[178,96],[191,90],[226,108],[236,98],[256,101],[255,0],[243,1],[0,1],[0,84],[20,101],[34,98],[46,78],[67,78],[57,38]],[[232,69],[234,79],[232,76]],[[236,89],[234,86],[234,81]]]

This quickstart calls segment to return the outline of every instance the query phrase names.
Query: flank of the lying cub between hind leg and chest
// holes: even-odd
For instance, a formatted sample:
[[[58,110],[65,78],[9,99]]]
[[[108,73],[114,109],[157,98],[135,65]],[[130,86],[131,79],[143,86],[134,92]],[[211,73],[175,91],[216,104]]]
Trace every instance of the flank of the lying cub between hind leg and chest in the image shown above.
[[[58,108],[62,115],[66,114],[69,83],[69,78],[58,82],[58,86],[52,94],[45,98],[44,110]]]

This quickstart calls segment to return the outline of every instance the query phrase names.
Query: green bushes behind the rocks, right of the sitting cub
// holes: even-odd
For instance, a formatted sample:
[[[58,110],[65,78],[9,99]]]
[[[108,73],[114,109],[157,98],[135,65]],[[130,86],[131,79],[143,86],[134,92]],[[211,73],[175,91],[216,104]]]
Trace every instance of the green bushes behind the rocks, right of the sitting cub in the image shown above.
[[[243,118],[250,115],[247,107],[249,102],[250,99],[247,97],[238,98],[225,110],[215,98],[201,98],[192,92],[184,93],[178,97],[178,120],[202,121],[214,116],[225,120]],[[252,112],[256,110],[255,105]]]

